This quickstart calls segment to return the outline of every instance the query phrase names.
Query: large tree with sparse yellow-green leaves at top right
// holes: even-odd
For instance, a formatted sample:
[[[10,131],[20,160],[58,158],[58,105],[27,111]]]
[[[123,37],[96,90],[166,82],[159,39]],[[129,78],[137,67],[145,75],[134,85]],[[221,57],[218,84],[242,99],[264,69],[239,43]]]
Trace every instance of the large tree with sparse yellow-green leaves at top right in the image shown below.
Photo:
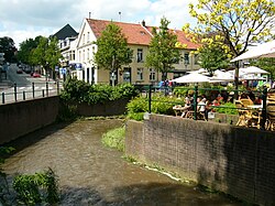
[[[197,19],[197,26],[184,26],[193,34],[193,40],[213,42],[215,33],[226,43],[224,51],[239,56],[254,42],[272,37],[275,24],[275,2],[270,0],[198,0],[189,4],[190,15]],[[235,65],[235,86],[239,82],[239,65]]]

